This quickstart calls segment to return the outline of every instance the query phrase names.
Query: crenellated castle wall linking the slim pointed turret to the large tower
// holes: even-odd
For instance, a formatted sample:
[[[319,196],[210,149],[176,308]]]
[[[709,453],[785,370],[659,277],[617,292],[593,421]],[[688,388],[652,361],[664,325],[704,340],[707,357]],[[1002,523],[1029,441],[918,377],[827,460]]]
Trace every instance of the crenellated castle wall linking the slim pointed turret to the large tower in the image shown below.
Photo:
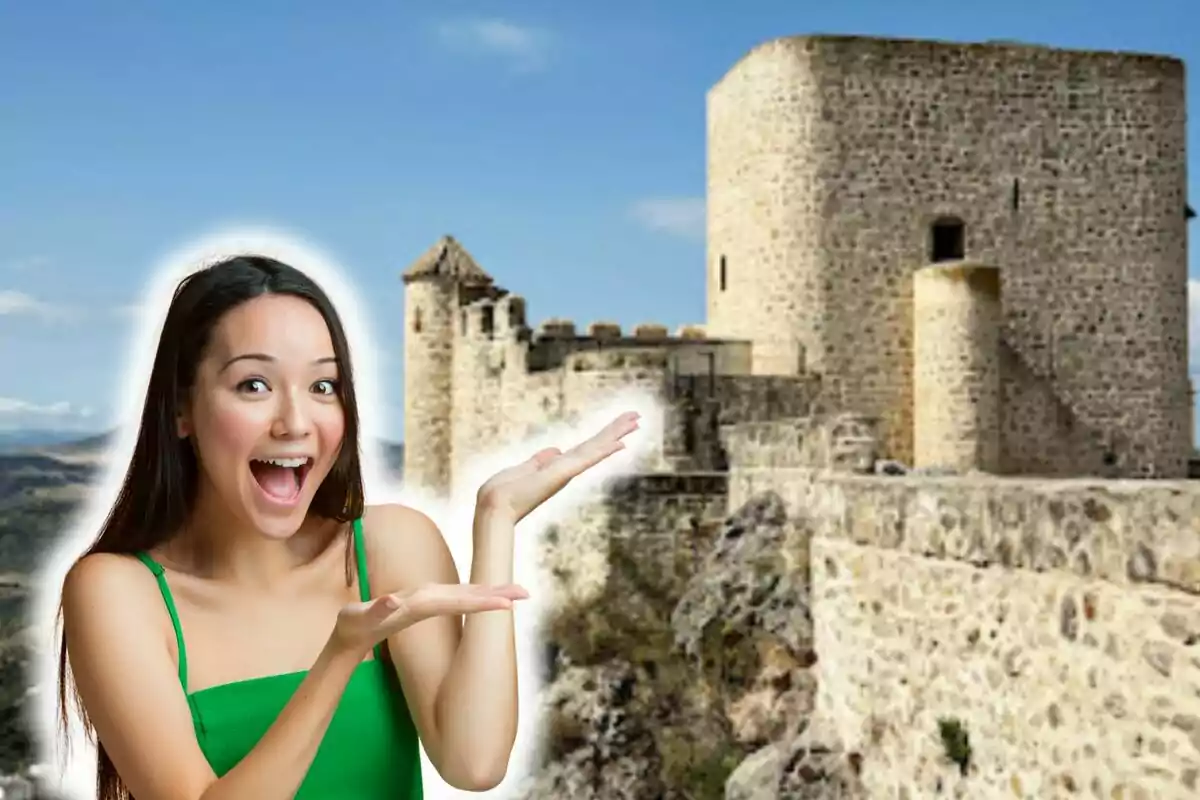
[[[578,337],[556,320],[534,337],[485,324],[481,301],[463,309],[454,343],[451,481],[470,458],[577,419],[622,390],[641,390],[666,409],[664,437],[647,470],[720,471],[721,426],[796,417],[821,397],[812,377],[750,375],[749,345],[703,338]],[[593,333],[598,333],[593,326]],[[426,433],[426,435],[428,435]]]

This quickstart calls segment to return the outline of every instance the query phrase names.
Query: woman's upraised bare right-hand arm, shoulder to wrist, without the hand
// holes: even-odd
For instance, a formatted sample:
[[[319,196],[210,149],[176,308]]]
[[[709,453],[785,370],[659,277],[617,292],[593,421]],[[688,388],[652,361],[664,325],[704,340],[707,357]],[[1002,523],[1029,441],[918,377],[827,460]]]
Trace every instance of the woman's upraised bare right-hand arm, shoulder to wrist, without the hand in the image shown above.
[[[476,528],[487,524],[486,515]],[[398,505],[364,517],[372,594],[458,583],[437,525]],[[470,583],[512,582],[512,525],[475,531]],[[443,778],[481,792],[508,771],[517,728],[516,644],[511,610],[427,619],[394,634],[388,650],[430,760]]]

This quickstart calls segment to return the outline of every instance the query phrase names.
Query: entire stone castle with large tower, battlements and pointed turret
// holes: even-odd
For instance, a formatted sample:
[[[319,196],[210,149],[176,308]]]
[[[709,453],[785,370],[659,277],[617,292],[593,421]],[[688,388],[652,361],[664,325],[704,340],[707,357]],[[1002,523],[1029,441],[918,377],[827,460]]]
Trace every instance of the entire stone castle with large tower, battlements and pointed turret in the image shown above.
[[[443,239],[404,273],[406,470],[448,486],[515,420],[636,380],[677,398],[678,469],[820,398],[916,467],[1184,476],[1184,119],[1170,59],[756,48],[708,97],[707,325],[533,332]]]

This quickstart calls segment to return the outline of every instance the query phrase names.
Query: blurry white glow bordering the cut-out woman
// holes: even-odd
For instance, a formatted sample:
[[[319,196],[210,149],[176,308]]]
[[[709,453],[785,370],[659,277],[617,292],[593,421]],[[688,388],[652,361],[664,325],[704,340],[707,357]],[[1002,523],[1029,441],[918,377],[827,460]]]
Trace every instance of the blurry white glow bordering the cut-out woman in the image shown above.
[[[143,295],[143,315],[137,330],[130,337],[124,377],[118,381],[118,402],[122,409],[116,416],[122,421],[115,438],[109,444],[103,469],[92,483],[92,491],[74,518],[71,528],[60,537],[55,551],[47,558],[36,578],[37,591],[32,602],[31,634],[35,638],[32,657],[34,680],[30,721],[38,739],[40,764],[48,788],[64,798],[85,800],[95,798],[95,748],[84,738],[77,714],[71,714],[68,723],[68,750],[60,745],[58,718],[58,638],[56,613],[62,579],[74,560],[95,539],[103,524],[112,503],[116,498],[125,469],[128,465],[137,440],[137,423],[145,399],[146,381],[154,363],[158,336],[166,319],[167,308],[179,281],[204,266],[234,254],[256,253],[269,255],[296,266],[314,279],[329,295],[338,309],[349,343],[355,390],[359,403],[359,437],[362,445],[362,475],[370,505],[402,503],[428,515],[445,535],[462,579],[470,569],[470,519],[474,511],[474,489],[461,493],[455,499],[439,503],[419,487],[398,486],[390,477],[382,450],[373,443],[383,441],[386,404],[383,402],[379,381],[378,349],[371,343],[371,325],[367,321],[366,303],[350,285],[332,260],[317,247],[304,242],[293,234],[276,228],[236,227],[217,230],[199,237],[169,253],[160,261]],[[398,281],[397,281],[398,283]],[[402,297],[397,296],[397,307]],[[626,450],[617,453],[584,476],[572,481],[563,492],[544,504],[518,529],[515,552],[515,579],[527,587],[530,600],[521,603],[516,613],[517,664],[520,679],[521,724],[514,747],[510,769],[504,782],[485,792],[462,792],[445,783],[421,750],[425,796],[428,800],[474,799],[511,796],[524,782],[540,748],[541,692],[539,661],[540,620],[552,604],[547,596],[548,582],[540,578],[536,564],[536,546],[545,527],[569,515],[580,503],[600,489],[602,482],[637,471],[638,464],[652,456],[652,443],[661,441],[662,409],[653,395],[629,389],[608,396],[608,402],[582,414],[574,426],[557,426],[540,435],[503,450],[486,453],[470,462],[466,486],[476,486],[478,477],[490,475],[534,451],[547,446],[566,449],[578,439],[589,435],[611,421],[617,414],[635,410],[642,415],[641,428],[626,438]],[[60,771],[61,770],[61,771]],[[52,776],[58,774],[59,780]]]

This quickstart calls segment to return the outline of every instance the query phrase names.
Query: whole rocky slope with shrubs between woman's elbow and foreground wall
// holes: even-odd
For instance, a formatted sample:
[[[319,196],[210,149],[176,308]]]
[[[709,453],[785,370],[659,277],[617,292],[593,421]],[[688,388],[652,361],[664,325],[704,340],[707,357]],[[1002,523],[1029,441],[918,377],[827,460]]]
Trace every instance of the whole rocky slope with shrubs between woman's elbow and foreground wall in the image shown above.
[[[722,521],[724,493],[702,491],[720,487],[653,483],[550,537],[564,603],[547,624],[545,762],[522,796],[857,796],[808,726],[808,531],[776,494]]]

